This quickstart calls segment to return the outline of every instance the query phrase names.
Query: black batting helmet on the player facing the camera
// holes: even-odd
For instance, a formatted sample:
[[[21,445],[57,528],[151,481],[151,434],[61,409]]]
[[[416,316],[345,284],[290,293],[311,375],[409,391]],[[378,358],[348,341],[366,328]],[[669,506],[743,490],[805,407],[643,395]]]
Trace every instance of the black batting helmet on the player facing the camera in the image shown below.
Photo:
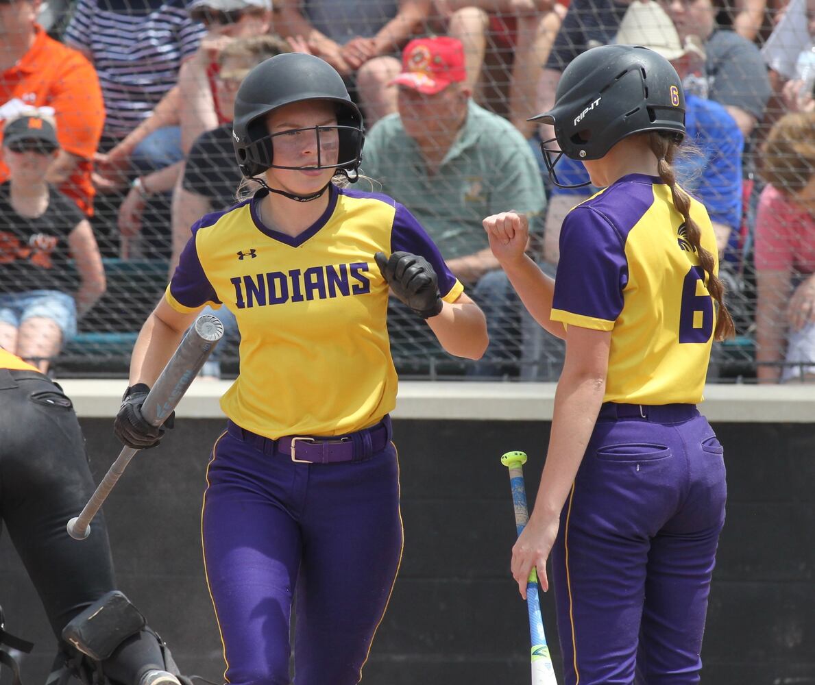
[[[254,67],[236,94],[232,143],[245,177],[258,176],[275,166],[267,114],[287,104],[315,99],[334,103],[339,133],[337,164],[319,166],[335,167],[346,175],[356,172],[362,158],[362,115],[350,99],[342,77],[319,57],[289,52]]]

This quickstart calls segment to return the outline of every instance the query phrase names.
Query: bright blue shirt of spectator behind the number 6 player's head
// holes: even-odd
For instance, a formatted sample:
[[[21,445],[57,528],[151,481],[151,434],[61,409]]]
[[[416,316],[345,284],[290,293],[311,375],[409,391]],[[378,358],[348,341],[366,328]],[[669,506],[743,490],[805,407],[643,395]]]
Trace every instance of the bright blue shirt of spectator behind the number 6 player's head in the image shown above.
[[[738,227],[742,223],[742,147],[741,130],[719,103],[685,95],[686,141],[697,151],[685,145],[682,156],[674,160],[676,180],[681,187],[705,205],[711,221],[730,226],[728,252],[738,250]],[[557,180],[565,185],[588,181],[588,173],[578,160],[562,156],[555,167]],[[591,195],[595,189],[558,188],[552,195]],[[734,258],[734,254],[729,257]]]

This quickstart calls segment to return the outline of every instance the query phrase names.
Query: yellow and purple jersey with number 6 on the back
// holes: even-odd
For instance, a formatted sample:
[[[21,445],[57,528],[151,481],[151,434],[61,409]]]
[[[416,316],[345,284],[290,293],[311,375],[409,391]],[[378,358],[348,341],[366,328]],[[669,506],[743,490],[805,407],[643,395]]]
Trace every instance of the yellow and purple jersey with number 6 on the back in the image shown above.
[[[692,198],[690,216],[716,259],[707,210]],[[552,320],[611,332],[604,402],[700,402],[716,312],[671,189],[620,178],[566,216],[560,255]]]

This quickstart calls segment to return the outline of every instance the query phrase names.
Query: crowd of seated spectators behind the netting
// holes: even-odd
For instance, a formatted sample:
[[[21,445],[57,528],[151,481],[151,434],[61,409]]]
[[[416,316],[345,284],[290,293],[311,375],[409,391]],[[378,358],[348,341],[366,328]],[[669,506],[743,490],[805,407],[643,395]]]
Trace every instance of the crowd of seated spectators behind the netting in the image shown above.
[[[729,353],[747,360],[733,377],[815,380],[815,0],[0,0],[0,345],[47,369],[108,266],[171,274],[192,223],[236,201],[241,79],[300,51],[363,109],[360,186],[419,218],[487,314],[487,354],[456,372],[556,380],[562,347],[524,313],[481,220],[526,213],[529,252],[555,273],[562,218],[599,189],[565,157],[572,187],[553,184],[552,131],[527,119],[571,59],[614,42],[659,51],[683,81],[678,169],[716,229]],[[398,363],[445,357],[396,301],[389,328]]]

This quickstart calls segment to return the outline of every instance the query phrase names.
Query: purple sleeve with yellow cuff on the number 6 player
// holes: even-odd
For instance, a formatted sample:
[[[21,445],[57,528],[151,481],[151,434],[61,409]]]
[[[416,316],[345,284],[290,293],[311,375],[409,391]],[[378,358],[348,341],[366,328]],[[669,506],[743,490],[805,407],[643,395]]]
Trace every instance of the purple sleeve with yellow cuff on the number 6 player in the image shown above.
[[[553,320],[613,324],[623,310],[627,283],[628,261],[619,232],[594,209],[572,209],[561,229],[552,305],[566,316],[553,316]]]

